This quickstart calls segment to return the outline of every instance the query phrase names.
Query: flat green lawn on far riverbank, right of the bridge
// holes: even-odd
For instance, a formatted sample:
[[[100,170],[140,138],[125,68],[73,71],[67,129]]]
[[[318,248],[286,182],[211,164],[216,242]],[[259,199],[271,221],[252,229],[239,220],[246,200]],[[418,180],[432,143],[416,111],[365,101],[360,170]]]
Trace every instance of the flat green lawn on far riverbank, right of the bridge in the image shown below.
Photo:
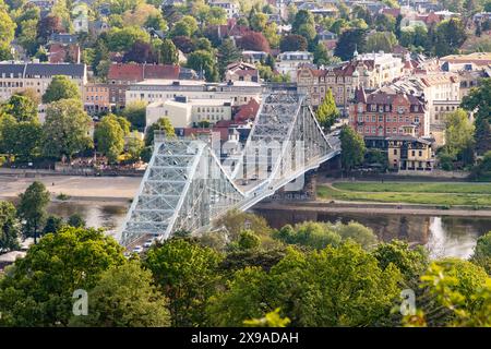
[[[491,184],[479,183],[334,183],[318,186],[324,200],[409,203],[436,206],[491,206]]]

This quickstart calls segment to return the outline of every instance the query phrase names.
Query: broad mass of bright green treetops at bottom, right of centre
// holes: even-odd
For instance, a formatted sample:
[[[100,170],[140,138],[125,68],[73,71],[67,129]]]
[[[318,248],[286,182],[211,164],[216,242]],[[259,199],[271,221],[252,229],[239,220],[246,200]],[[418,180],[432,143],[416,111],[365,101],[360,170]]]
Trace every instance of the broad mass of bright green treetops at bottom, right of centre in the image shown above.
[[[302,253],[290,249],[268,273],[246,267],[208,306],[217,326],[240,326],[276,308],[292,326],[367,326],[385,316],[400,275],[355,243]]]

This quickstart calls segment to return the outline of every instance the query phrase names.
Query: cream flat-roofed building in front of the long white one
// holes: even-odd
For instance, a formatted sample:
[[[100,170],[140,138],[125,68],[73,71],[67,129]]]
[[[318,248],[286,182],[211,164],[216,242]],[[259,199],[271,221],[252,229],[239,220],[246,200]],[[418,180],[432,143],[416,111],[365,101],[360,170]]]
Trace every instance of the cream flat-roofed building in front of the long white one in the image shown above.
[[[213,125],[231,120],[231,99],[188,99],[182,96],[156,101],[146,107],[146,125],[163,117],[168,118],[176,129],[199,127],[201,122]]]

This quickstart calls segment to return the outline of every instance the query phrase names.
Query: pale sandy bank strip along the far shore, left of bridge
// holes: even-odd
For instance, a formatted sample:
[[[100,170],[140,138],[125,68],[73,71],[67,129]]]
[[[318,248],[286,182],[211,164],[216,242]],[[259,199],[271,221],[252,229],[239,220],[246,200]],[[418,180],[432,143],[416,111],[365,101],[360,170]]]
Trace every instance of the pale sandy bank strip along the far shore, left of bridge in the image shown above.
[[[53,197],[63,193],[77,200],[127,201],[134,197],[142,178],[70,176],[25,178],[0,176],[0,198],[17,196],[34,181],[43,182]]]

